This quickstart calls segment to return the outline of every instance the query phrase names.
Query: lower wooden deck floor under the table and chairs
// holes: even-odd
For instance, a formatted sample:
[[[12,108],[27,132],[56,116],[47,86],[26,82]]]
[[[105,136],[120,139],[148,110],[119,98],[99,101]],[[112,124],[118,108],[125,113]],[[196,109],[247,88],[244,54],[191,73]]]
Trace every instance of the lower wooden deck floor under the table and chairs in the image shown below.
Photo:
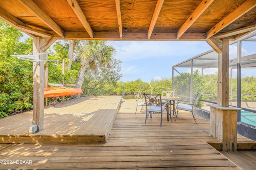
[[[217,141],[209,136],[206,120],[197,117],[196,125],[191,114],[179,112],[176,122],[168,122],[164,114],[160,127],[159,114],[145,124],[145,112],[134,115],[135,109],[135,100],[123,100],[107,143],[1,144],[0,160],[14,160],[14,164],[1,164],[0,169],[256,169],[255,158],[250,165],[242,160],[238,166],[236,160],[208,145]],[[16,164],[17,160],[32,164]]]

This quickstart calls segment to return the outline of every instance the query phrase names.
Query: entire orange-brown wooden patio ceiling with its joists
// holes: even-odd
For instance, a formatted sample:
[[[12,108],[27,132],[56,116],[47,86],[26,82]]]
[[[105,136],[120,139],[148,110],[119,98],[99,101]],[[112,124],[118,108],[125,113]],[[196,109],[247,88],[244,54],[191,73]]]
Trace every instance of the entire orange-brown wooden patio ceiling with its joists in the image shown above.
[[[256,30],[256,0],[1,0],[0,19],[31,37],[234,40]]]

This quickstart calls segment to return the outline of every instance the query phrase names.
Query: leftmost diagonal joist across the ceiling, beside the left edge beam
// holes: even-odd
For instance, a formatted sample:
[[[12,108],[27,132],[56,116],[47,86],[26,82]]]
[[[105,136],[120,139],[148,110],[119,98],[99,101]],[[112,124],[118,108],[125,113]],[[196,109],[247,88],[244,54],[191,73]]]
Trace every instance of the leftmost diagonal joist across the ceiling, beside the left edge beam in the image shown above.
[[[65,37],[64,30],[55,23],[39,6],[37,6],[32,0],[18,0],[23,4],[28,10],[36,14],[36,16],[44,22],[48,27],[50,27],[54,32],[56,32],[60,37]]]

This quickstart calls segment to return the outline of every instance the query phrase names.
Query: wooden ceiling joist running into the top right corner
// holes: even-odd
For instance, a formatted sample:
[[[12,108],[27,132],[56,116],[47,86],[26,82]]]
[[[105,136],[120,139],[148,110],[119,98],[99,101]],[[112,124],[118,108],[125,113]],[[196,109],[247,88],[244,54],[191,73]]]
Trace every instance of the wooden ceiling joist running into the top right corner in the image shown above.
[[[206,38],[210,38],[220,30],[228,26],[230,23],[244,15],[246,12],[250,11],[252,8],[256,6],[255,0],[247,0],[241,6],[236,8],[233,12],[228,14],[223,20],[217,23],[214,27],[212,27],[209,31],[206,32]]]

